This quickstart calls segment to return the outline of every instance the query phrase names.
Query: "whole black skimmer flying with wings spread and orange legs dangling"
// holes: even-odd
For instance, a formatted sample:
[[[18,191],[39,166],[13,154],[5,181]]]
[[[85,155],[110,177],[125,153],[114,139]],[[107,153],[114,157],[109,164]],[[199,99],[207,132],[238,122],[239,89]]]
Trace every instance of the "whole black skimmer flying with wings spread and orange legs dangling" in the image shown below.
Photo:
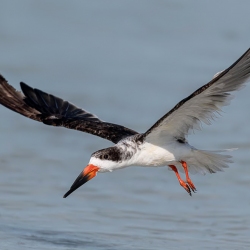
[[[0,75],[0,103],[33,120],[47,125],[62,126],[100,136],[115,145],[94,152],[89,164],[76,178],[66,198],[96,176],[128,166],[169,166],[180,185],[191,195],[196,188],[189,171],[215,173],[228,167],[231,156],[220,151],[199,150],[191,146],[186,136],[200,123],[210,124],[221,107],[229,104],[230,92],[239,90],[250,77],[250,49],[234,64],[217,73],[204,86],[180,101],[145,133],[104,122],[84,109],[21,82],[16,91]],[[184,170],[186,181],[179,174]]]

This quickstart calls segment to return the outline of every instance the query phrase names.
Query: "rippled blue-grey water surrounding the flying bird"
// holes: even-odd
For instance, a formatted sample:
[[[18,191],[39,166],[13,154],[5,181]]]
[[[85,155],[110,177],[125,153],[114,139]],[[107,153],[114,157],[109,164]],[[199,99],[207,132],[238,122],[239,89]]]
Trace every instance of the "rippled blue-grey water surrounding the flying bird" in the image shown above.
[[[140,132],[250,46],[249,1],[1,1],[0,72]],[[249,84],[250,85],[250,84]],[[63,194],[100,138],[0,107],[0,249],[249,249],[250,86],[202,149],[239,148],[223,173],[99,174]]]

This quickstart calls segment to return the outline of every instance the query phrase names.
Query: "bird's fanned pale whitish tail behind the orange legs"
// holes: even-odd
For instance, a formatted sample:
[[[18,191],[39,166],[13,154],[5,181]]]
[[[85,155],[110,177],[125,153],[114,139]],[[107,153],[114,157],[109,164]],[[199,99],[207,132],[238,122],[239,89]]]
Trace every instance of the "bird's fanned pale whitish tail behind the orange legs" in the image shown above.
[[[218,151],[193,149],[193,156],[187,160],[187,164],[191,173],[216,173],[228,168],[228,164],[232,163],[232,156],[222,154],[224,152],[233,151],[233,149],[225,149]]]

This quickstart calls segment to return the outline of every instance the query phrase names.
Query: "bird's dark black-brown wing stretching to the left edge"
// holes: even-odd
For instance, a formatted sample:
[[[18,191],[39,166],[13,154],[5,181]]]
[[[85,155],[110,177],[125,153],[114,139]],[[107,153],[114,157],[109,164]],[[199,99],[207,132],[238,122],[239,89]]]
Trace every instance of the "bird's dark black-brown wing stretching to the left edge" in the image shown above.
[[[0,75],[0,103],[33,120],[47,125],[62,126],[100,136],[117,143],[137,134],[126,127],[101,121],[95,115],[80,109],[61,98],[33,89],[21,82],[20,91],[15,90]]]

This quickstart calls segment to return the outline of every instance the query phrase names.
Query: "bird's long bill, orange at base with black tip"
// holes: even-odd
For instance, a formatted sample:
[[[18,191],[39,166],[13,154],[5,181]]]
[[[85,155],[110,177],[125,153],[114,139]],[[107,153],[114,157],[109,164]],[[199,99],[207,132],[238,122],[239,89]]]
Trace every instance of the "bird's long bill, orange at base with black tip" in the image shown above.
[[[63,198],[66,198],[71,193],[73,193],[76,189],[78,189],[80,186],[82,186],[87,181],[91,180],[96,176],[96,172],[99,170],[98,167],[90,164],[88,165],[76,178],[72,186],[70,187],[69,191],[63,196]]]

